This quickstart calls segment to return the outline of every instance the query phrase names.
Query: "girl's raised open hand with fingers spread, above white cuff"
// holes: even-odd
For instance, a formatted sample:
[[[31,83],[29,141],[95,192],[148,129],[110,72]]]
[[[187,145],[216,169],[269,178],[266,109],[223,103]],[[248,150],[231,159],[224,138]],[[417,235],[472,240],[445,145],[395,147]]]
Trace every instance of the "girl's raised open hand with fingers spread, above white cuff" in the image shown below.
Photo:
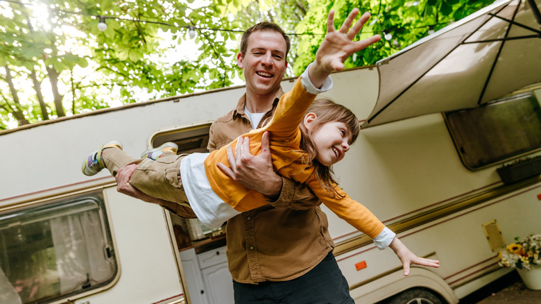
[[[353,39],[363,25],[370,19],[370,13],[365,12],[361,18],[350,28],[353,19],[359,14],[359,9],[354,8],[347,16],[338,31],[334,28],[334,10],[329,12],[327,18],[327,35],[321,43],[316,60],[309,67],[309,77],[315,87],[320,87],[332,71],[339,71],[344,68],[344,61],[353,53],[365,49],[381,39],[380,35],[374,35],[365,40],[354,42]]]

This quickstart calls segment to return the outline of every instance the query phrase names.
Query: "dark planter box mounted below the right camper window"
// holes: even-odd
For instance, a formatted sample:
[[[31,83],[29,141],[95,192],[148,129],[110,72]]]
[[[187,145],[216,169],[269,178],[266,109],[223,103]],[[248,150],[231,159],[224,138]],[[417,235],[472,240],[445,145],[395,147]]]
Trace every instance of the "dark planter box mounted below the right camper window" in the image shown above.
[[[541,174],[541,155],[535,158],[517,160],[496,169],[501,181],[506,184],[516,183],[526,178]]]

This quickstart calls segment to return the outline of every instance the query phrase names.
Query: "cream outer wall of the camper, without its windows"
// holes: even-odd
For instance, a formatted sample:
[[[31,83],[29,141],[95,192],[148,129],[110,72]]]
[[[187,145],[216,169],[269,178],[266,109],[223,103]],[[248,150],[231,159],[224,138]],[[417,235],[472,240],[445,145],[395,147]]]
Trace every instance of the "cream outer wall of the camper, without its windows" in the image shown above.
[[[325,95],[366,119],[377,99],[376,69],[351,69],[332,78],[334,88]],[[292,79],[282,82],[286,92],[292,85]],[[207,126],[234,108],[243,92],[243,87],[235,87],[189,94],[0,133],[0,214],[91,191],[101,192],[107,206],[118,264],[114,280],[53,303],[215,303],[213,290],[225,289],[220,280],[212,280],[212,271],[214,278],[223,278],[223,260],[207,267],[200,257],[208,253],[182,260],[195,253],[179,253],[174,215],[119,194],[108,171],[88,177],[80,166],[89,152],[110,140],[119,140],[125,151],[139,155],[160,134]],[[535,94],[541,100],[541,90]],[[334,166],[340,185],[397,231],[415,254],[438,259],[441,267],[414,267],[404,278],[390,249],[378,251],[370,239],[323,206],[336,260],[356,303],[376,303],[415,287],[457,303],[508,273],[498,266],[497,251],[490,248],[483,225],[496,221],[507,242],[540,233],[541,180],[504,185],[496,167],[467,169],[440,114],[361,130],[345,159]],[[209,259],[220,253],[225,259],[223,247],[213,248]],[[187,286],[195,287],[187,292]]]

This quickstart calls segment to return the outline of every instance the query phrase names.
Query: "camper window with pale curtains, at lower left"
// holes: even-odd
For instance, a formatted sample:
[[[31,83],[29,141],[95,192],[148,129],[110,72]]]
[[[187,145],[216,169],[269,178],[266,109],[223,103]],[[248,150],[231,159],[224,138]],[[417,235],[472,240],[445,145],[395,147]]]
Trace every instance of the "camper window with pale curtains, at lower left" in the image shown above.
[[[46,303],[117,273],[99,193],[0,212],[0,303]]]

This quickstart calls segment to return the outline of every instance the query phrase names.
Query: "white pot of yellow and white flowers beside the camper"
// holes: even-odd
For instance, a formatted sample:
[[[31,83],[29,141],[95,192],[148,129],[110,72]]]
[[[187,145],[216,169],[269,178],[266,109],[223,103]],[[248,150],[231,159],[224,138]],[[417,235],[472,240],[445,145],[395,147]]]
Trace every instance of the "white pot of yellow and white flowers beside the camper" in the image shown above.
[[[515,237],[498,254],[501,267],[516,268],[526,287],[541,289],[541,235],[529,235],[524,239]]]

